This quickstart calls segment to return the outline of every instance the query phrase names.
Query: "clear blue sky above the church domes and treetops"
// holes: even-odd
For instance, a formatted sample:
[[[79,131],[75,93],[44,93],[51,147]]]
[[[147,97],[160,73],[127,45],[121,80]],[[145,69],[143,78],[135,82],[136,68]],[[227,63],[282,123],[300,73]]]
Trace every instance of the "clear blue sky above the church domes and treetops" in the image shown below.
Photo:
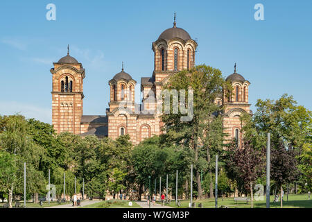
[[[46,20],[46,5],[56,21]],[[264,21],[254,5],[264,6]],[[51,123],[53,62],[70,54],[83,63],[84,114],[105,114],[107,82],[121,71],[137,80],[153,73],[152,42],[173,26],[198,40],[196,63],[234,71],[257,99],[288,93],[312,110],[312,1],[16,1],[0,3],[0,114],[20,112]]]

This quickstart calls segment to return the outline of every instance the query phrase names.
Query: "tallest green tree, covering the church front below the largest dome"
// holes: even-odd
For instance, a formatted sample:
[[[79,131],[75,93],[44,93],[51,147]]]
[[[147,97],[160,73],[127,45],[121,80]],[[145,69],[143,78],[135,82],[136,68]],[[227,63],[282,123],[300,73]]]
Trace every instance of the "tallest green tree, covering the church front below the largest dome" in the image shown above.
[[[207,160],[210,161],[209,149],[212,148],[211,140],[207,139],[211,135],[211,122],[215,116],[222,111],[222,108],[215,103],[216,97],[223,94],[223,87],[231,88],[222,77],[219,69],[214,69],[205,65],[193,67],[187,71],[180,71],[171,76],[166,89],[179,91],[193,89],[193,119],[191,121],[180,121],[183,114],[163,114],[164,130],[169,142],[181,146],[186,146],[194,151],[195,180],[198,189],[198,198],[202,198],[202,185],[200,182],[200,172],[207,168],[208,164],[205,156],[200,155],[202,150],[207,151]],[[186,98],[189,98],[187,93]],[[189,107],[191,108],[191,107]],[[171,111],[172,111],[171,106]],[[220,126],[222,128],[222,125]],[[223,132],[220,130],[218,132]],[[221,138],[222,136],[216,137]],[[220,144],[218,142],[218,144]]]

